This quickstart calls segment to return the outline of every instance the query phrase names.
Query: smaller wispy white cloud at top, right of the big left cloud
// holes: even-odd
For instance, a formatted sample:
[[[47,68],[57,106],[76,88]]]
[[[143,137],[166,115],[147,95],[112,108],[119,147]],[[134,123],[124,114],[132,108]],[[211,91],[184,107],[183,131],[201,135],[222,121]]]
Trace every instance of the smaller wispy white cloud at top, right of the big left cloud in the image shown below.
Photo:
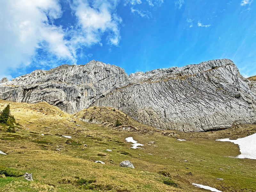
[[[78,20],[78,25],[73,31],[71,44],[75,47],[86,44],[100,44],[101,36],[107,32],[108,43],[118,45],[120,41],[120,33],[118,25],[122,19],[115,13],[116,3],[108,1],[94,1],[91,6],[87,1],[75,1],[72,9]]]

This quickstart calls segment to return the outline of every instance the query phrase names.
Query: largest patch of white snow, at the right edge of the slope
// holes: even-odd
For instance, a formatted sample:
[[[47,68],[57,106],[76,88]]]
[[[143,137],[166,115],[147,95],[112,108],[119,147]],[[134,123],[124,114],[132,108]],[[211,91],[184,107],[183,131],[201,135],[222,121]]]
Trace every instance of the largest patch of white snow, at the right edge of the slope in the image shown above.
[[[256,159],[256,133],[249,135],[244,138],[239,138],[236,140],[227,139],[218,139],[216,141],[229,141],[235,143],[239,146],[241,154],[237,158],[244,159]]]

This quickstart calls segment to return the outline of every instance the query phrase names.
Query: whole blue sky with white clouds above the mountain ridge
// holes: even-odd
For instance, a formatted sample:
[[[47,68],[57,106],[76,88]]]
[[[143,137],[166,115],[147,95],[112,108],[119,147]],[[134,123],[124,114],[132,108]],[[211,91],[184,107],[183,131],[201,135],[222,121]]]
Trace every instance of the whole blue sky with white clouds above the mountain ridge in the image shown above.
[[[231,59],[256,75],[253,0],[2,0],[0,79],[90,60],[130,74]]]

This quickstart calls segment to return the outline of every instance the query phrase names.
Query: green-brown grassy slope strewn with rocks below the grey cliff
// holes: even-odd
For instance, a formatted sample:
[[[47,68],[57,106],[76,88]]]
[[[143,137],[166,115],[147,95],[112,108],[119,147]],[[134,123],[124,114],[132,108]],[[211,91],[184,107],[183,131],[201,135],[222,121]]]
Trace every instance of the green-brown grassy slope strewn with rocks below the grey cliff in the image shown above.
[[[256,160],[231,158],[229,156],[239,154],[239,148],[230,142],[214,140],[222,136],[238,137],[237,133],[243,136],[255,133],[255,126],[179,133],[178,136],[187,141],[178,141],[159,130],[124,132],[81,121],[70,122],[72,116],[47,103],[31,105],[0,100],[0,109],[8,103],[12,115],[22,126],[17,127],[16,133],[8,133],[4,125],[0,125],[0,150],[7,153],[6,156],[0,154],[0,164],[15,171],[32,172],[34,181],[0,177],[0,191],[86,191],[75,185],[77,178],[95,179],[95,184],[103,186],[95,191],[204,191],[191,183],[223,192],[256,191]],[[72,140],[82,145],[68,145],[67,138],[61,135],[72,136]],[[130,136],[145,144],[145,149],[131,149],[131,143],[125,142]],[[156,143],[147,145],[149,141]],[[61,148],[60,151],[57,148]],[[95,160],[106,164],[94,163]],[[130,160],[135,169],[119,167],[123,160]],[[170,172],[180,188],[165,185],[163,181],[167,178],[158,171]]]

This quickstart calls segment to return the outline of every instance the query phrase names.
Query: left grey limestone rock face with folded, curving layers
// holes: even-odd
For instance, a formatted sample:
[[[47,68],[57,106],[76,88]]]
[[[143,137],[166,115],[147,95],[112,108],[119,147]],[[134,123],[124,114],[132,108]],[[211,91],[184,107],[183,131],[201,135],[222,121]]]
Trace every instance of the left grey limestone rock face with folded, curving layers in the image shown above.
[[[46,101],[72,114],[127,82],[124,69],[92,60],[86,65],[36,70],[2,83],[0,99],[27,103]]]

